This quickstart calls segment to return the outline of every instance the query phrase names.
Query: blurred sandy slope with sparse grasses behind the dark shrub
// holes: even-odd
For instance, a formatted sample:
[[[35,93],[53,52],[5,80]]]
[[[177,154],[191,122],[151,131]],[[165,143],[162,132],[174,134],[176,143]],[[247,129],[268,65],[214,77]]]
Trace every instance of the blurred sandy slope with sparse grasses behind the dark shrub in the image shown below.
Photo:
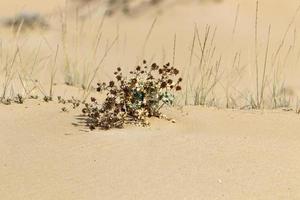
[[[99,66],[95,80],[106,81],[117,66],[173,62],[190,99],[197,82],[213,71],[215,80],[205,84],[213,90],[205,94],[217,105],[228,104],[229,96],[251,104],[258,64],[259,79],[267,66],[270,99],[274,87],[276,95],[296,98],[298,11],[298,0],[0,0],[1,62],[14,60],[17,49],[14,65],[22,66],[16,73],[24,80],[49,84],[55,63],[57,84],[80,88]]]

